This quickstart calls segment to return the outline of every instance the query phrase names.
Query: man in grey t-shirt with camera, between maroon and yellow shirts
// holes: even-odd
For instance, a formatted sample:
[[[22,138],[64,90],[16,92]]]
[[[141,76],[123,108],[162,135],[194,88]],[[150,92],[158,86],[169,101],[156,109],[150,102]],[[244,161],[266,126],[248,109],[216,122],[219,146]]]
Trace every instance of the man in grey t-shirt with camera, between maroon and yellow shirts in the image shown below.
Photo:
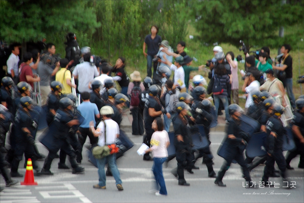
[[[41,56],[37,67],[37,73],[40,77],[41,105],[47,103],[47,96],[51,92],[50,77],[55,76],[59,70],[60,63],[55,55],[56,49],[53,43],[47,44],[48,53]],[[53,68],[55,66],[55,68]]]

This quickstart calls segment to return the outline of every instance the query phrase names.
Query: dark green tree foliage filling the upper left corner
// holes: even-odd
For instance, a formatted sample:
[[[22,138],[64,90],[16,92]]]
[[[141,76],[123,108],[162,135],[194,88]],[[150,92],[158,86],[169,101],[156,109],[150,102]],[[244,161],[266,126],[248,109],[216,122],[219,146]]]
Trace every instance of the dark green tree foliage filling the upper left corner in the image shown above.
[[[100,27],[87,1],[1,0],[0,38],[6,42],[37,42],[82,32],[91,36]]]

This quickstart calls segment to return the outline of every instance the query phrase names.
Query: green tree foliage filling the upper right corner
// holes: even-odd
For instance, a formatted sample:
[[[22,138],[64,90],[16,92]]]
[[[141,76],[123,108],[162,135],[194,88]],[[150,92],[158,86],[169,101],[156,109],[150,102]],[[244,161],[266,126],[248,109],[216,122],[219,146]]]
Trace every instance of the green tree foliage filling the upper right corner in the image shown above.
[[[279,38],[280,26],[303,22],[304,1],[281,5],[277,0],[192,1],[189,14],[195,28],[207,43],[230,43],[237,47],[240,40],[246,46],[277,47],[284,42],[294,43],[294,36],[303,30]]]

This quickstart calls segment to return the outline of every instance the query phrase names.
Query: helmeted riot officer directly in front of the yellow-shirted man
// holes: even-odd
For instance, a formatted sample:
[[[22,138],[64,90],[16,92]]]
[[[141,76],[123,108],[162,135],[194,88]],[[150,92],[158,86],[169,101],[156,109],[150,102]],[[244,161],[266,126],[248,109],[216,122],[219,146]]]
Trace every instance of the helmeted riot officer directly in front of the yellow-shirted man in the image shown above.
[[[52,121],[54,120],[56,111],[59,109],[59,99],[63,85],[59,81],[53,81],[51,83],[51,93],[47,98],[47,125],[50,126]]]

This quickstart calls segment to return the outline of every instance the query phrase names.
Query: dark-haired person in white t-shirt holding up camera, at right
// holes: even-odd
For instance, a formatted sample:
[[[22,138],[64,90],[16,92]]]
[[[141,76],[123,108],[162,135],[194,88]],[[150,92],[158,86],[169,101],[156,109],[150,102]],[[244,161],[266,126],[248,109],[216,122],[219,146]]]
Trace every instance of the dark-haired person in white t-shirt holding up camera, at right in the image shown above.
[[[244,81],[244,85],[242,87],[243,92],[247,92],[247,100],[245,103],[245,108],[247,109],[251,105],[254,104],[251,93],[253,91],[258,91],[260,89],[260,83],[257,81],[260,77],[260,74],[258,71],[252,71],[250,76],[247,76]]]

